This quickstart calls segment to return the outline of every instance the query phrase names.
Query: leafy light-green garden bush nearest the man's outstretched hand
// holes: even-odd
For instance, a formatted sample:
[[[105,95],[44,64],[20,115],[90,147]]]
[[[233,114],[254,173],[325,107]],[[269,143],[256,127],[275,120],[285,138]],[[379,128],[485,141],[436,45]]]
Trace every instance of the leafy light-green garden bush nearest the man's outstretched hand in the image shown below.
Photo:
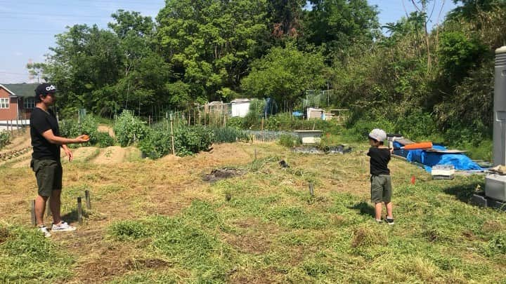
[[[117,117],[114,131],[122,147],[138,142],[148,134],[145,123],[126,109]]]

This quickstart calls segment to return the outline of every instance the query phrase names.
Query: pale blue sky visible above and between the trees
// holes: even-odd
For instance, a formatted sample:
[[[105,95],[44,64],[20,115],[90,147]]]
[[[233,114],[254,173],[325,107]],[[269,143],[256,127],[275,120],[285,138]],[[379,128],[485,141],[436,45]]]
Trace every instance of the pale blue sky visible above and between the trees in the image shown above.
[[[444,0],[434,0],[436,11]],[[396,22],[415,8],[409,0],[369,0],[380,11],[380,23]],[[403,6],[404,2],[404,6]],[[54,35],[75,24],[96,24],[107,27],[110,14],[118,9],[138,11],[153,18],[164,6],[164,0],[0,0],[0,83],[31,82],[27,62],[44,62]],[[455,8],[453,1],[444,1],[443,15]],[[405,8],[406,7],[406,10]],[[433,22],[434,24],[434,22]]]

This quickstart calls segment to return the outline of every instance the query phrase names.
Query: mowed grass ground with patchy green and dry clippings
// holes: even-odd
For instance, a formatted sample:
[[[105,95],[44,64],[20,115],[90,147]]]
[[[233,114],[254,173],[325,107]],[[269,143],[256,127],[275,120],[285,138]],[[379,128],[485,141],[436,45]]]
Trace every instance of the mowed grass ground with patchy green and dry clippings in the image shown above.
[[[211,154],[181,159],[107,168],[74,163],[65,168],[63,210],[74,217],[74,199],[85,189],[92,192],[93,207],[75,234],[51,240],[30,229],[26,208],[16,209],[25,206],[18,203],[29,198],[30,191],[16,193],[11,187],[15,182],[4,182],[11,191],[2,192],[8,192],[15,210],[0,217],[6,228],[6,237],[0,234],[0,279],[506,281],[506,213],[467,203],[477,187],[484,187],[483,176],[431,180],[423,170],[394,160],[390,168],[396,224],[375,224],[365,150],[364,144],[351,154],[315,156],[292,154],[275,144],[226,144]],[[290,168],[281,168],[281,159]],[[214,184],[202,182],[202,174],[219,167],[242,168],[247,174]],[[2,171],[20,180],[32,175],[27,170]],[[413,175],[415,184],[410,183]],[[309,195],[309,182],[314,184],[314,196]],[[13,243],[25,239],[36,241],[26,241],[28,248],[21,252],[14,250]],[[40,256],[23,257],[22,252],[30,250],[37,255],[41,246],[58,248],[51,256],[58,266],[41,265],[45,259]]]

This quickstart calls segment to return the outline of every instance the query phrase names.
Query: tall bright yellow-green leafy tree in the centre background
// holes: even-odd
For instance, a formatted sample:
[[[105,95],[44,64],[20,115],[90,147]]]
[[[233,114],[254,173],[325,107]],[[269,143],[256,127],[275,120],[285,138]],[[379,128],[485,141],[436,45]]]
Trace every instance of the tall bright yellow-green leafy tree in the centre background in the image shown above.
[[[221,99],[240,79],[268,36],[265,0],[169,0],[157,15],[157,44],[174,70],[171,96],[187,104]],[[186,88],[188,87],[188,88]]]

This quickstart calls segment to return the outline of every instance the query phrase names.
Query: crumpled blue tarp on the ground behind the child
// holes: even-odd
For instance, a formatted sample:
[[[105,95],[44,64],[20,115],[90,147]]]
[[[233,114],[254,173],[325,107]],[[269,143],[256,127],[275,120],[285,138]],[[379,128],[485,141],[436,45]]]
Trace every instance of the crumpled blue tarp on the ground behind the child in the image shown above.
[[[402,146],[404,145],[394,142],[394,147]],[[446,147],[441,145],[434,145],[432,148],[446,150]],[[445,154],[424,150],[396,150],[394,154],[403,156],[410,162],[421,163],[428,173],[431,173],[434,165],[453,165],[455,170],[484,170],[465,154]]]

